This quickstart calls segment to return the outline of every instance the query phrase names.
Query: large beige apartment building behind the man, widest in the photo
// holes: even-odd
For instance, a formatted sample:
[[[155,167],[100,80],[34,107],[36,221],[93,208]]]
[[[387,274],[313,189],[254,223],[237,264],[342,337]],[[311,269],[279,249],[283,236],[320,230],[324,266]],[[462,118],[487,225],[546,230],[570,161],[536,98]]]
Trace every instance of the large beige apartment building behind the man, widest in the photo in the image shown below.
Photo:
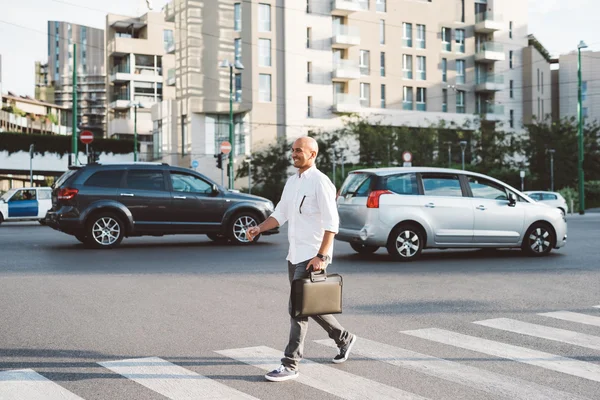
[[[165,14],[176,97],[156,107],[155,137],[182,165],[220,173],[212,155],[229,138],[230,81],[238,159],[354,113],[414,127],[523,120],[519,0],[173,0]]]

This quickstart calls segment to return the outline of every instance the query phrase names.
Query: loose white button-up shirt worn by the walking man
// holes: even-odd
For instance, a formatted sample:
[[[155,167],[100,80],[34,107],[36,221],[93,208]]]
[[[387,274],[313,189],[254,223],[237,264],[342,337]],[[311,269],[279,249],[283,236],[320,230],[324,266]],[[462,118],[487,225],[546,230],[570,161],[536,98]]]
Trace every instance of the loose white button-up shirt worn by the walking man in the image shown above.
[[[325,231],[338,233],[340,219],[335,197],[335,186],[314,165],[287,180],[271,217],[279,226],[289,222],[287,260],[292,264],[316,257]],[[332,254],[333,244],[327,255]]]

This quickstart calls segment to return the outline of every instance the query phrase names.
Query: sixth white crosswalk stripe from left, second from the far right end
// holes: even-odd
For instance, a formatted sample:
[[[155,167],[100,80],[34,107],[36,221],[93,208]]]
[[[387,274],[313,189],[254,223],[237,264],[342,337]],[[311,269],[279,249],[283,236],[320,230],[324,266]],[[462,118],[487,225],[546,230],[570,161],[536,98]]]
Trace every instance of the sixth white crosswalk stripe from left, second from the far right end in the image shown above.
[[[555,342],[562,342],[572,344],[574,346],[586,347],[588,349],[600,350],[600,337],[586,335],[585,333],[530,324],[528,322],[517,321],[510,318],[488,319],[474,323],[507,332],[520,333],[523,335],[553,340]]]

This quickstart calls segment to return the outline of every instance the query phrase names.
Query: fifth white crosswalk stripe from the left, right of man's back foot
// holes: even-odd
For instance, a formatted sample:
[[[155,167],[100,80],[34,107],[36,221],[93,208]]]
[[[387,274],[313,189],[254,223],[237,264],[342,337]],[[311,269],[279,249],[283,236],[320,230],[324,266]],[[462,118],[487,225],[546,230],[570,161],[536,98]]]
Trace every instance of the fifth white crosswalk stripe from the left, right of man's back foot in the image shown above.
[[[535,365],[537,367],[542,367],[552,371],[600,382],[600,365],[578,361],[572,358],[531,350],[525,347],[514,346],[493,340],[463,335],[444,329],[418,329],[413,331],[403,331],[402,333],[431,340],[437,343],[472,350],[499,358],[506,358],[524,364]]]

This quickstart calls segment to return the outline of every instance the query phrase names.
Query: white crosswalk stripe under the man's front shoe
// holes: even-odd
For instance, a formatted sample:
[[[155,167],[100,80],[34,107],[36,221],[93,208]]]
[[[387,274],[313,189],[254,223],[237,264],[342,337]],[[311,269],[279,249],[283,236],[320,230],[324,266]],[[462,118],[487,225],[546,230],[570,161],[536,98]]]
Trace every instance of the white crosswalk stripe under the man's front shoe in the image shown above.
[[[271,371],[280,364],[281,351],[265,346],[242,349],[219,350],[218,354],[253,365],[264,371]],[[425,399],[401,389],[362,378],[336,368],[321,365],[310,360],[302,360],[302,369],[296,379],[304,385],[322,390],[343,399],[384,400],[384,399]]]

